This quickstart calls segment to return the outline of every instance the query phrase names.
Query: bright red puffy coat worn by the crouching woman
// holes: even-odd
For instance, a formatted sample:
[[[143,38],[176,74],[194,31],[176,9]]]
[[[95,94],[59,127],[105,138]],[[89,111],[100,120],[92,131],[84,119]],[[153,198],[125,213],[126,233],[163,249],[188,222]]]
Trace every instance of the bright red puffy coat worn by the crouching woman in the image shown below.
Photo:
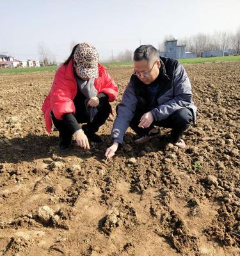
[[[118,87],[106,72],[106,69],[100,64],[99,78],[95,79],[94,86],[98,93],[103,92],[108,95],[109,102],[114,101],[118,95]],[[73,61],[70,61],[67,65],[61,65],[56,71],[51,92],[49,92],[42,105],[47,132],[51,132],[51,111],[60,120],[65,113],[75,113],[73,100],[76,94],[77,81],[74,77]]]

